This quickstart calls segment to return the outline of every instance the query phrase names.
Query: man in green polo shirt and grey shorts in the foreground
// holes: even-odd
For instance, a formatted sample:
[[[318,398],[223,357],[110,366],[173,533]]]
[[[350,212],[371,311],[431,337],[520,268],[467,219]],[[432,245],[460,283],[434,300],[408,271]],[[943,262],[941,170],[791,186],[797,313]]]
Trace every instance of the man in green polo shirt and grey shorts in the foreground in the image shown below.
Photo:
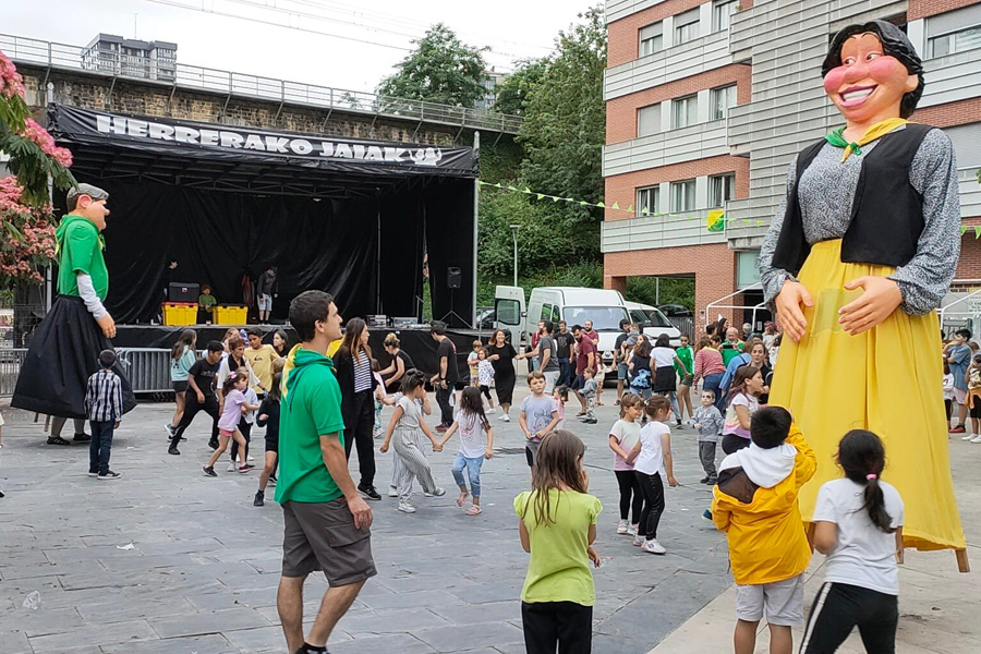
[[[300,293],[290,304],[290,324],[302,342],[290,353],[280,404],[276,501],[284,524],[276,604],[290,653],[314,654],[327,651],[335,625],[376,574],[372,509],[348,472],[340,386],[324,354],[341,337],[334,299]],[[303,582],[315,570],[330,588],[304,639]]]

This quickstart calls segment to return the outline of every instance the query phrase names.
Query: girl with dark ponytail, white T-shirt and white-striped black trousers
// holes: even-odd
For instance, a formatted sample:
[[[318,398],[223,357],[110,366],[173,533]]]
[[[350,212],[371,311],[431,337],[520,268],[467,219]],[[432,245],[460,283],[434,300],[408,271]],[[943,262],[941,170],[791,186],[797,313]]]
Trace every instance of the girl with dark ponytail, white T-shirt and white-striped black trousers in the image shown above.
[[[814,547],[827,555],[802,654],[834,652],[858,627],[869,652],[894,652],[899,621],[903,499],[882,481],[885,448],[872,432],[852,429],[838,444],[845,479],[821,486]]]

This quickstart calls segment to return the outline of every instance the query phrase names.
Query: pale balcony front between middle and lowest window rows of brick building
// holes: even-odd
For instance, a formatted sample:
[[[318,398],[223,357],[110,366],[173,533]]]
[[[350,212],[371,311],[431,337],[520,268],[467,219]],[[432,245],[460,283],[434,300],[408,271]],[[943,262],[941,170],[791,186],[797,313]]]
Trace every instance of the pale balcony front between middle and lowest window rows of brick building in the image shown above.
[[[603,177],[729,154],[726,121],[641,136],[603,147]]]

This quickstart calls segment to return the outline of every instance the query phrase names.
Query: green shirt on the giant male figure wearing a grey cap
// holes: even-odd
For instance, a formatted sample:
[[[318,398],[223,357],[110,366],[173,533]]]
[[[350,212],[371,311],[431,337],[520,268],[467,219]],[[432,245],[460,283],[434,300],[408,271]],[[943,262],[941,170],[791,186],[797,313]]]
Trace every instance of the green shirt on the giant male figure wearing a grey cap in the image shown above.
[[[102,257],[102,240],[99,228],[87,218],[69,214],[55,230],[58,241],[58,292],[78,296],[76,275],[92,277],[99,300],[109,294],[109,270]]]

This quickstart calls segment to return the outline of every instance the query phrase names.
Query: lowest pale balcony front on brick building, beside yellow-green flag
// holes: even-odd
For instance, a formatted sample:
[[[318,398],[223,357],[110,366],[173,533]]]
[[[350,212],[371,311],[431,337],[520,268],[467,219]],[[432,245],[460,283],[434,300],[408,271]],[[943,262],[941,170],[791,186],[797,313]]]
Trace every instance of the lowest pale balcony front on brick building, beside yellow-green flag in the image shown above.
[[[706,227],[710,210],[606,220],[600,229],[600,250],[605,254],[725,243],[725,232]]]

